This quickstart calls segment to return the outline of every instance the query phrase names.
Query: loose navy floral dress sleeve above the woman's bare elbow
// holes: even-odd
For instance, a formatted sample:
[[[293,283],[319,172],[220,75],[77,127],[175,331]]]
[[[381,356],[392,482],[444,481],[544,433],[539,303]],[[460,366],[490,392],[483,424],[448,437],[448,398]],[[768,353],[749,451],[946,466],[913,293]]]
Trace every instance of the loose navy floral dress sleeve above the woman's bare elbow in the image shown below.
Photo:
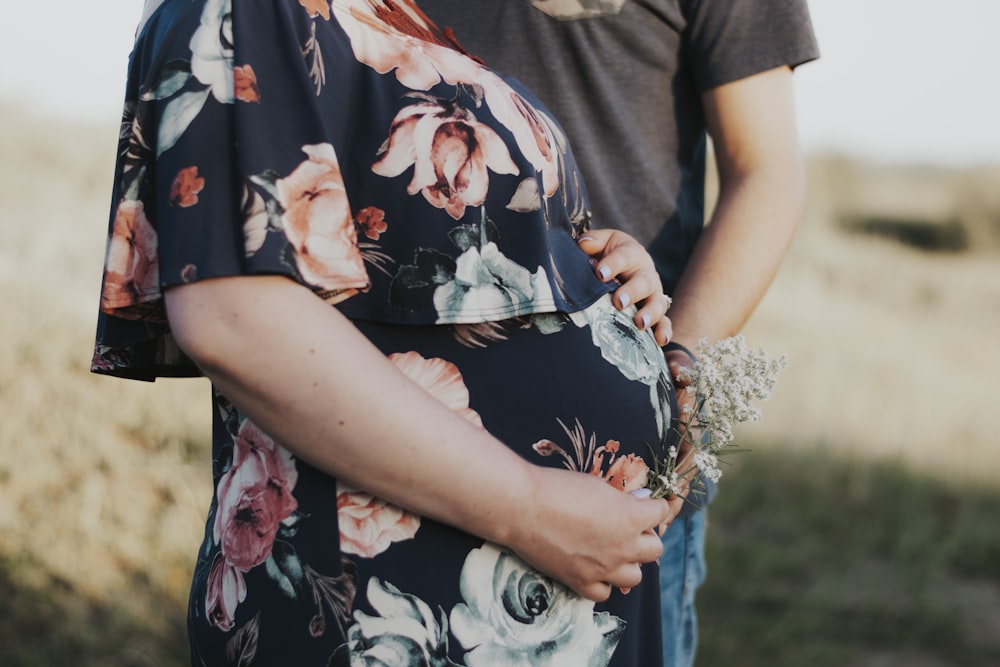
[[[235,4],[235,11],[233,5]],[[92,369],[195,375],[165,290],[284,275],[330,303],[370,285],[338,161],[353,60],[317,58],[301,3],[167,2],[129,61]],[[318,69],[317,69],[318,67]]]

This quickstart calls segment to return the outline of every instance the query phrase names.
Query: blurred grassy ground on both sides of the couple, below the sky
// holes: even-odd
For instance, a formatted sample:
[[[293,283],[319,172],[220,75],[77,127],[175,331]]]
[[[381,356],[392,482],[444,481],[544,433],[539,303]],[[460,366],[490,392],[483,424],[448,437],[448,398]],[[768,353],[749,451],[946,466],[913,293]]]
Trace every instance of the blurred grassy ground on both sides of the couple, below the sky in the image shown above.
[[[207,385],[88,373],[115,128],[0,125],[0,665],[185,664]],[[747,328],[791,363],[712,509],[699,667],[1000,664],[996,256],[810,210]]]

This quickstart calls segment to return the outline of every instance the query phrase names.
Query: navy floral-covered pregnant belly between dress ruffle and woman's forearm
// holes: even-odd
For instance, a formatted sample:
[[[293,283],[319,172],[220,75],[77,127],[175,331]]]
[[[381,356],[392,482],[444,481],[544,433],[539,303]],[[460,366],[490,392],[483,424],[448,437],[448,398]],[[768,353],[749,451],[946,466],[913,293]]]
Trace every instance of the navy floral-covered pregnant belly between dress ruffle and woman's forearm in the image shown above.
[[[676,400],[663,354],[609,297],[570,316],[355,324],[412,380],[539,465],[597,472],[669,446]]]

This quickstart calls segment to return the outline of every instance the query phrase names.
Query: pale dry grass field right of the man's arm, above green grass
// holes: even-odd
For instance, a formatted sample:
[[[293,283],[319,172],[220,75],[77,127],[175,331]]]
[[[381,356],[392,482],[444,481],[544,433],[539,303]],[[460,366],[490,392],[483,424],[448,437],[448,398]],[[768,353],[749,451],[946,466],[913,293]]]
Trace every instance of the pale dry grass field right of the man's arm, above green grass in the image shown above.
[[[810,167],[746,328],[791,360],[754,434],[1000,488],[1000,167]]]

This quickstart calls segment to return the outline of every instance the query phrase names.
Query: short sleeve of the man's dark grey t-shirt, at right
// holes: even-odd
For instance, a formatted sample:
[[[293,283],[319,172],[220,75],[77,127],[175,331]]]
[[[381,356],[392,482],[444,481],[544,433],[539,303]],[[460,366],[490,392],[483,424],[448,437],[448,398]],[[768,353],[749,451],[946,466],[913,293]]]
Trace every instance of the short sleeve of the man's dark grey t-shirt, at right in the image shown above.
[[[685,3],[698,89],[819,57],[805,0],[691,0]]]

